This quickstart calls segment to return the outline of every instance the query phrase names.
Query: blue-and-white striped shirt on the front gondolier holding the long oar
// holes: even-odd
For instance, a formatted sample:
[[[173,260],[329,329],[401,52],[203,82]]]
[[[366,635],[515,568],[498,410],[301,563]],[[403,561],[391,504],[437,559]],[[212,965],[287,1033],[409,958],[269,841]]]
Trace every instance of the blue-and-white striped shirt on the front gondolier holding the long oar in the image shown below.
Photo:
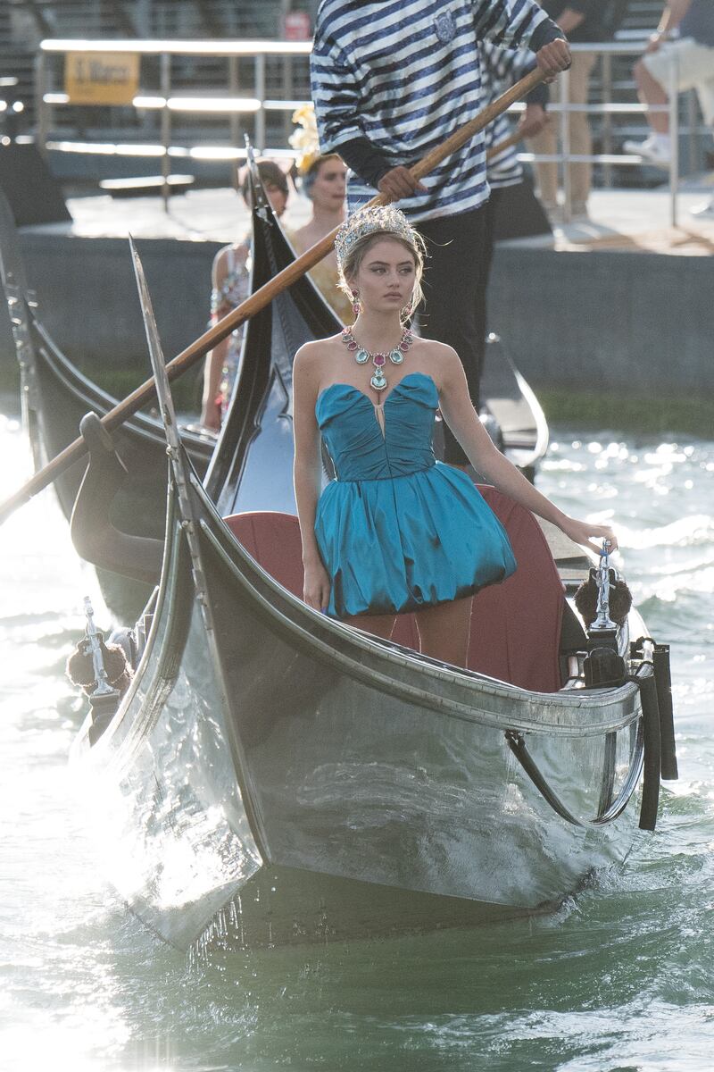
[[[310,59],[323,152],[367,138],[391,166],[412,165],[485,104],[478,42],[541,47],[560,36],[535,0],[322,0]],[[483,133],[399,202],[414,221],[488,197]],[[354,211],[375,190],[350,174]]]

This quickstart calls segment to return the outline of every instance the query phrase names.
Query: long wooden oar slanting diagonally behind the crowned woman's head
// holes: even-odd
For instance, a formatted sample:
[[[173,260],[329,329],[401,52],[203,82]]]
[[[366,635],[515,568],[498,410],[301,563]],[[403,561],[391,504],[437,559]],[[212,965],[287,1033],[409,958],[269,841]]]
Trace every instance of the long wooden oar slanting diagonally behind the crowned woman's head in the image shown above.
[[[468,122],[464,126],[460,126],[451,137],[442,142],[441,145],[437,146],[430,152],[420,160],[410,170],[415,179],[423,179],[425,175],[432,172],[443,160],[451,157],[452,153],[460,149],[461,146],[472,138],[475,134],[478,134],[485,126],[488,126],[495,119],[503,113],[506,111],[512,104],[516,101],[520,101],[523,96],[531,92],[540,83],[544,80],[546,76],[538,68],[534,68],[530,71],[525,78],[517,81],[515,85],[507,89],[502,96],[499,96],[496,101],[492,101],[487,107],[483,108],[477,116]],[[377,197],[373,197],[369,205],[385,205],[389,198],[384,194],[378,194]],[[268,306],[273,298],[275,298],[283,291],[286,291],[297,280],[299,280],[305,272],[314,268],[316,264],[319,264],[323,257],[330,253],[333,245],[335,244],[335,237],[339,228],[335,227],[331,230],[329,235],[325,235],[319,242],[312,245],[309,250],[306,250],[302,256],[293,260],[291,265],[284,268],[282,272],[273,277],[268,283],[252,294],[249,298],[242,301],[240,306],[231,310],[226,316],[224,316],[218,323],[212,327],[209,331],[206,331],[199,339],[193,342],[184,351],[182,351],[177,357],[166,366],[166,371],[169,381],[173,381],[177,376],[180,376],[187,369],[191,369],[201,357],[204,357],[210,349],[229,336],[231,331],[234,331],[237,327],[243,324],[244,321],[249,319],[255,316],[256,313],[260,312],[265,306]],[[117,428],[127,417],[135,414],[137,410],[146,405],[155,394],[154,381],[147,379],[146,383],[137,387],[136,390],[132,391],[123,402],[110,410],[109,413],[105,414],[102,418],[102,423],[104,427],[111,431],[112,428]],[[87,453],[87,447],[85,441],[79,436],[74,443],[61,450],[47,465],[40,470],[39,473],[28,480],[28,482],[16,491],[10,498],[6,498],[2,504],[0,504],[0,524],[2,524],[11,513],[13,513],[19,506],[28,503],[33,495],[36,495],[39,491],[46,488],[48,483],[56,480],[70,465],[73,465],[76,461]]]

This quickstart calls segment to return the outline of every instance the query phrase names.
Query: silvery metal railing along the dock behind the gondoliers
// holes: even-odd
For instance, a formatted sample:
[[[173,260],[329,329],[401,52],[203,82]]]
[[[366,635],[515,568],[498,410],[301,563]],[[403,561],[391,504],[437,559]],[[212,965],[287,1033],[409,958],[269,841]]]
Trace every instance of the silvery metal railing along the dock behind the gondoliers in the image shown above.
[[[642,159],[637,155],[614,153],[613,125],[612,120],[618,116],[644,116],[648,111],[668,113],[670,123],[671,159],[669,163],[669,193],[670,193],[670,219],[672,226],[677,224],[677,192],[679,187],[679,135],[680,135],[680,108],[678,71],[674,63],[670,65],[670,77],[668,85],[669,103],[667,105],[648,108],[640,103],[614,102],[612,60],[614,57],[639,56],[644,49],[647,39],[636,39],[631,41],[617,41],[609,43],[588,43],[572,45],[574,53],[588,53],[601,58],[601,84],[603,101],[599,104],[573,104],[569,101],[569,74],[565,72],[560,75],[557,88],[552,96],[557,99],[549,105],[550,111],[558,115],[559,146],[555,155],[535,155],[523,152],[519,154],[522,161],[544,161],[562,165],[563,170],[563,214],[565,221],[572,215],[572,190],[569,165],[578,163],[599,164],[604,168],[606,184],[611,182],[612,168],[623,165],[638,165]],[[290,157],[292,153],[284,147],[268,148],[265,145],[267,117],[270,113],[287,113],[306,103],[304,100],[271,99],[267,95],[265,63],[269,57],[282,58],[283,63],[292,64],[294,58],[307,58],[312,49],[310,42],[289,42],[289,41],[83,41],[83,40],[46,40],[41,43],[36,66],[36,109],[37,109],[37,132],[36,140],[42,151],[48,149],[59,149],[64,151],[81,152],[111,152],[117,155],[161,158],[162,175],[164,177],[164,196],[169,193],[168,179],[171,175],[171,161],[181,158],[193,158],[203,160],[233,160],[245,159],[243,148],[243,130],[241,117],[254,116],[254,143],[259,151],[270,151],[271,155]],[[158,59],[159,64],[159,86],[156,92],[141,91],[137,93],[132,102],[132,106],[137,110],[154,110],[161,116],[159,140],[158,143],[138,144],[113,144],[93,145],[88,142],[50,142],[49,131],[52,122],[54,108],[69,105],[72,102],[65,93],[57,91],[49,86],[48,62],[52,56],[65,56],[67,53],[125,53],[139,54],[141,56],[152,56]],[[228,62],[228,90],[226,93],[202,93],[197,95],[174,93],[172,86],[171,60],[173,57],[215,57],[226,59]],[[239,63],[241,60],[249,59],[254,62],[253,96],[239,95]],[[288,66],[289,83],[292,84],[292,70]],[[284,85],[288,79],[284,78]],[[516,105],[514,110],[522,108]],[[229,145],[173,145],[173,116],[180,113],[202,113],[206,116],[228,116],[229,118]],[[602,137],[606,151],[591,155],[579,155],[571,152],[569,148],[569,123],[568,117],[573,113],[586,113],[588,115],[601,116],[603,119]],[[689,109],[688,132],[690,138],[699,133],[696,125],[696,115]],[[690,158],[694,153],[690,150]]]

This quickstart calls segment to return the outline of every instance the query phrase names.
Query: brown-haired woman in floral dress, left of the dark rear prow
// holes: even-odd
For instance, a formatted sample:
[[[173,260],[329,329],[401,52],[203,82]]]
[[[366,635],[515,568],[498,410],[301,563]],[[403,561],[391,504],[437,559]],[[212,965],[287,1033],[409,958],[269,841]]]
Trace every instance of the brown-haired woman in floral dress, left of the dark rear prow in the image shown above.
[[[272,160],[258,161],[258,175],[265,195],[277,217],[283,215],[288,204],[288,180]],[[250,209],[250,178],[246,168],[241,184],[243,200]],[[225,245],[215,255],[211,273],[211,319],[213,326],[237,309],[248,297],[250,289],[250,235],[239,242]],[[241,324],[223,339],[206,357],[203,367],[203,396],[200,421],[203,428],[217,432],[225,415],[238,372],[243,343]]]

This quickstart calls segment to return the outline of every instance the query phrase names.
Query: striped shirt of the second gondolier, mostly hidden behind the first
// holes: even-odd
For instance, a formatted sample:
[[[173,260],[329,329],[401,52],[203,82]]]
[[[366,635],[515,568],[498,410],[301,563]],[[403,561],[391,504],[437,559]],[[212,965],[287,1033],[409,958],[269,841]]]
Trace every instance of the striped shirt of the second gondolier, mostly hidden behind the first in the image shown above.
[[[534,59],[528,53],[500,48],[489,42],[482,42],[478,47],[484,104],[490,104],[497,96],[505,93],[506,89],[523,78],[534,66]],[[486,152],[491,146],[500,145],[512,133],[513,121],[504,111],[484,131]],[[489,160],[486,164],[486,175],[488,184],[493,190],[522,182],[523,168],[518,160],[518,147],[512,145]]]

